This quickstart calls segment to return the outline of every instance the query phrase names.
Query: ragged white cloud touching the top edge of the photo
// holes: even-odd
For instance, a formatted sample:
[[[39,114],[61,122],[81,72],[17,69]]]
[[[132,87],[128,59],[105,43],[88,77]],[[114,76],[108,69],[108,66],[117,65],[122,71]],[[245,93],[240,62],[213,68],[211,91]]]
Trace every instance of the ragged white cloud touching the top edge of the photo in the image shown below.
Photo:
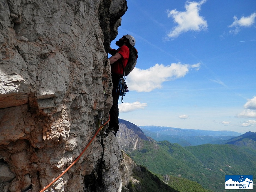
[[[206,20],[199,15],[201,5],[203,5],[206,0],[201,0],[199,2],[187,1],[185,4],[186,11],[176,11],[176,9],[169,11],[168,17],[173,17],[174,22],[178,25],[173,28],[173,30],[167,34],[168,38],[175,38],[181,33],[188,31],[201,31],[206,30],[208,25]]]

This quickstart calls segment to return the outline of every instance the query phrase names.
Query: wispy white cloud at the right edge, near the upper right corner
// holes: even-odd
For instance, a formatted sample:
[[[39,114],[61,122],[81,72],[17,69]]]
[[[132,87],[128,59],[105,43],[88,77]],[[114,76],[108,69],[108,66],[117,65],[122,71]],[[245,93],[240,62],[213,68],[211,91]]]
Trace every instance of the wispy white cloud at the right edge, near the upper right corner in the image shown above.
[[[240,30],[241,27],[250,27],[255,23],[255,17],[256,17],[256,13],[252,13],[250,16],[248,17],[241,17],[240,19],[237,19],[236,16],[234,16],[234,22],[229,25],[228,27],[235,27],[234,30],[230,30],[230,33],[234,33],[237,34]]]

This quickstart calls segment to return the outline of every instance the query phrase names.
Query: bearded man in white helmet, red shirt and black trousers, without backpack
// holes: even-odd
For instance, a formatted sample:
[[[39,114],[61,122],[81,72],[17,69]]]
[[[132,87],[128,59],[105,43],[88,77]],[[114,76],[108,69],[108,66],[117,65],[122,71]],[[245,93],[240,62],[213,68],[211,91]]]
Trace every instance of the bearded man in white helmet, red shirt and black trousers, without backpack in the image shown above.
[[[113,132],[116,136],[116,132],[119,129],[119,109],[118,109],[118,99],[119,93],[116,91],[119,83],[119,79],[122,78],[123,69],[127,65],[129,59],[129,48],[135,45],[135,39],[131,35],[124,35],[121,39],[116,41],[116,45],[119,47],[118,50],[112,49],[110,47],[109,53],[112,57],[109,57],[110,65],[111,65],[111,77],[113,82],[112,96],[113,96],[113,105],[109,111],[110,121],[109,127],[106,130],[106,135],[108,133]]]

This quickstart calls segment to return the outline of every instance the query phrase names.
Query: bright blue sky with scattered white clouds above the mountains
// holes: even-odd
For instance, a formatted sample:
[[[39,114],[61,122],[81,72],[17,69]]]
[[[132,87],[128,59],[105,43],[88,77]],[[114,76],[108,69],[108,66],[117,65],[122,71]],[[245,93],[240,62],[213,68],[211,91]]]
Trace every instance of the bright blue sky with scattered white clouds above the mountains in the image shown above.
[[[127,0],[115,42],[136,39],[119,118],[256,132],[256,1]]]

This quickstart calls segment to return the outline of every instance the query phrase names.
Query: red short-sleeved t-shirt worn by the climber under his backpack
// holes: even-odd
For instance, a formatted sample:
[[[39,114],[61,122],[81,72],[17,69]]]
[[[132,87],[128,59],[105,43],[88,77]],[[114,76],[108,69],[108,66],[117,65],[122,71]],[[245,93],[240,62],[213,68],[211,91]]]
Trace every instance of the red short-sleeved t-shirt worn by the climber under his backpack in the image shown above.
[[[112,50],[116,51],[115,49]],[[130,50],[126,45],[123,45],[118,49],[117,53],[121,54],[122,58],[111,65],[111,73],[123,74],[123,64],[125,68],[129,59]]]

